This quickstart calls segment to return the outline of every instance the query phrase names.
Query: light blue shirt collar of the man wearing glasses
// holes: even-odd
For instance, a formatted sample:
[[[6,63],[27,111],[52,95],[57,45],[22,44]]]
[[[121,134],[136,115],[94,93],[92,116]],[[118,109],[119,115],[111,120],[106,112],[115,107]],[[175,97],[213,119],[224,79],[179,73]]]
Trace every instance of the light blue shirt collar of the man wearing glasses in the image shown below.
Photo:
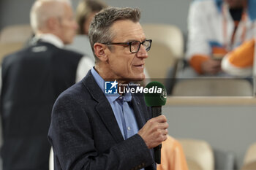
[[[94,67],[91,69],[91,74],[93,75],[94,79],[96,80],[97,84],[99,85],[99,88],[102,89],[102,92],[105,94],[105,96],[109,102],[116,101],[117,98],[121,97],[120,94],[106,94],[105,93],[105,80],[102,79],[102,77],[94,69]],[[130,91],[129,91],[129,93],[125,93],[123,97],[124,97],[124,101],[132,101],[132,93]]]

